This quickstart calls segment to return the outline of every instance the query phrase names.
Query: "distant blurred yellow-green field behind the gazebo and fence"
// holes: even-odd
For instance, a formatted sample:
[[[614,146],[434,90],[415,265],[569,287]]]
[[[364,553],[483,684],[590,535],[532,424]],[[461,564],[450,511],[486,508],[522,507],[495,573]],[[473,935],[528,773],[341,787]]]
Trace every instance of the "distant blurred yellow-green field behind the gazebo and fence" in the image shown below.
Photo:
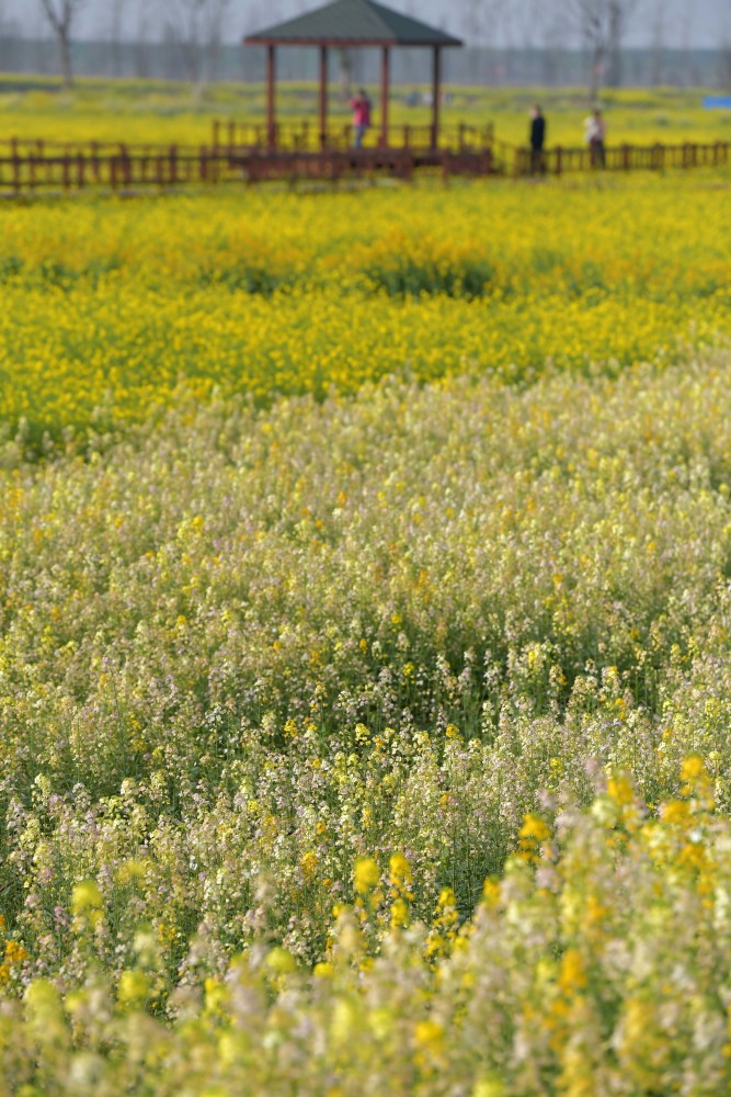
[[[370,89],[377,102],[377,89]],[[408,105],[407,98],[424,88],[395,89],[391,121],[427,125],[430,108]],[[681,143],[729,140],[731,111],[705,110],[703,89],[613,89],[602,93],[608,143]],[[528,115],[540,100],[548,117],[548,143],[580,145],[582,123],[591,106],[583,89],[447,88],[445,124],[492,122],[495,136],[515,144],[527,142]],[[332,87],[331,121],[350,121],[347,103]],[[282,121],[317,117],[315,83],[283,83],[277,93]],[[0,77],[0,139],[113,140],[206,144],[214,118],[264,121],[264,88],[260,84],[190,84],[145,80],[78,79],[66,90],[58,80],[42,77]],[[372,140],[374,138],[372,137]]]

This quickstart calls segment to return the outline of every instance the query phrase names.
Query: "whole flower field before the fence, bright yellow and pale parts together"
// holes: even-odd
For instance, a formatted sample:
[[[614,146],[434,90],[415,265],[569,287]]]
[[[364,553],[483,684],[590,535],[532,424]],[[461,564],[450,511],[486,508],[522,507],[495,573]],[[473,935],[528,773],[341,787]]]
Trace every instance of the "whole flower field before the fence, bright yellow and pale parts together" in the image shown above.
[[[727,186],[0,211],[0,1095],[731,1088]]]

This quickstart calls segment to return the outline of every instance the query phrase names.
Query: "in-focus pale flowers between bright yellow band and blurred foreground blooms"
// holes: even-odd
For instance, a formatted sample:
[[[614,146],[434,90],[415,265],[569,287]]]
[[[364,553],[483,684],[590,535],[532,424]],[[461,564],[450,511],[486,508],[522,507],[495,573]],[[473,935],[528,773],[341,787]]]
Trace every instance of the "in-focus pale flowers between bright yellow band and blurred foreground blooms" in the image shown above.
[[[717,353],[523,392],[392,381],[183,405],[85,456],[8,443],[0,882],[23,977],[73,970],[90,879],[104,962],[145,924],[173,985],[202,925],[217,964],[252,940],[263,879],[304,959],[354,862],[369,939],[386,898],[402,928],[441,905],[441,954],[449,912],[512,851],[555,856],[551,812],[605,777],[623,834],[623,773],[656,814],[693,754],[727,811],[730,374]]]

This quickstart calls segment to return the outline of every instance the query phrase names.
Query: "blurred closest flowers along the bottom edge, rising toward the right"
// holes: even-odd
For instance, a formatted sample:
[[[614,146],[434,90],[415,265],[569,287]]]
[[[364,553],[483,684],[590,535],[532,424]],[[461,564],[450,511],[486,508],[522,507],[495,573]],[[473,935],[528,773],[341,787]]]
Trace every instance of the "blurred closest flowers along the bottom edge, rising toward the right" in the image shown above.
[[[460,926],[448,889],[433,921],[407,923],[408,859],[393,855],[381,872],[361,858],[313,968],[272,941],[264,890],[251,947],[217,965],[201,927],[187,977],[167,997],[146,929],[114,985],[98,955],[110,914],[87,881],[72,900],[73,984],[35,977],[0,1007],[0,1031],[12,1032],[0,1041],[5,1085],[193,1097],[726,1093],[731,823],[712,811],[700,758],[684,762],[683,780],[682,799],[655,815],[627,779],[589,811],[561,812],[559,852],[510,858]],[[551,833],[537,816],[526,827]],[[379,904],[390,918],[374,951]],[[93,932],[80,913],[94,914]]]

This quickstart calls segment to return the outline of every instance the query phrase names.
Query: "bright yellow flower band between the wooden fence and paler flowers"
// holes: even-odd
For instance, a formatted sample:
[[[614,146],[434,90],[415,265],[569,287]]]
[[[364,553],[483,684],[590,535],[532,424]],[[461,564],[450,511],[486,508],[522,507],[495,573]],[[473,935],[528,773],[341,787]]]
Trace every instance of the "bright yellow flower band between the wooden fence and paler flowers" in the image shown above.
[[[731,330],[724,177],[7,208],[0,416],[32,443],[176,387],[264,403],[399,371],[511,382]]]

